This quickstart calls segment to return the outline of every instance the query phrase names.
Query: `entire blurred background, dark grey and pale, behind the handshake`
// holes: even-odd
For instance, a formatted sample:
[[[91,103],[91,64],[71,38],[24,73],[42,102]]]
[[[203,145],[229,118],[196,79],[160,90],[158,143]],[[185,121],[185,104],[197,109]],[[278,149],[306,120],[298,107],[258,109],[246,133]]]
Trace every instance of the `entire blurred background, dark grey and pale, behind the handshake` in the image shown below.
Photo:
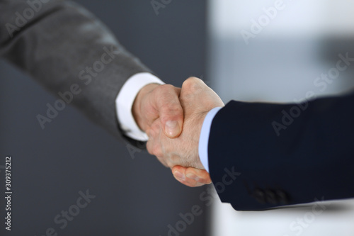
[[[354,57],[350,1],[157,0],[165,6],[158,14],[149,0],[77,2],[164,82],[201,77],[224,103],[294,102],[354,87],[354,65],[326,86],[316,83],[338,55]],[[209,206],[200,196],[212,186],[178,184],[154,157],[117,142],[73,108],[42,130],[35,116],[56,98],[4,61],[0,77],[0,157],[13,158],[11,235],[45,235],[50,227],[58,235],[354,234],[353,200],[326,203],[319,215],[311,204],[236,212],[217,196]],[[55,216],[86,189],[96,198],[60,229]],[[183,227],[181,215],[193,206],[202,214]]]

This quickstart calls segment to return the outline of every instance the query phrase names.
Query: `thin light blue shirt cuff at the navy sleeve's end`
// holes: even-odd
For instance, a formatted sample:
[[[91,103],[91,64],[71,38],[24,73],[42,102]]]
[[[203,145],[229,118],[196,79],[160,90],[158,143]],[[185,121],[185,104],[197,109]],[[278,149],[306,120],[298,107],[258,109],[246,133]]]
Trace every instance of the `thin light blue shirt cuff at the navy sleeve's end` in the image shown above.
[[[204,166],[205,170],[209,172],[209,160],[207,155],[207,145],[209,144],[209,135],[210,135],[210,128],[212,127],[212,120],[214,119],[217,112],[221,109],[221,107],[212,108],[205,116],[205,119],[202,123],[202,130],[200,131],[199,137],[199,158],[200,162]]]

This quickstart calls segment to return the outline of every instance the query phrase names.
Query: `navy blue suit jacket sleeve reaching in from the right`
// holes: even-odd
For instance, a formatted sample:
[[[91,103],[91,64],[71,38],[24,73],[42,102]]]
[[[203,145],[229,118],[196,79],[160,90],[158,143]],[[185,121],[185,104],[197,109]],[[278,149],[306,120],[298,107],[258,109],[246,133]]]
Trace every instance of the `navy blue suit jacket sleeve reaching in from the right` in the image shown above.
[[[210,176],[236,210],[354,197],[354,93],[302,104],[231,101],[212,121]]]

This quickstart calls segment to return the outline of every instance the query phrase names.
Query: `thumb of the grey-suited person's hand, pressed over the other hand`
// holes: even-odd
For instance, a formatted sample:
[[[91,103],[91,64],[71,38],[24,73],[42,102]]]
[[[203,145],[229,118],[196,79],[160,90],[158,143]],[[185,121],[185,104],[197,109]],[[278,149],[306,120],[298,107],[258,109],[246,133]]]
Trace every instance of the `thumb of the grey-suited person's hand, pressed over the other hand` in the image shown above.
[[[169,84],[159,86],[157,91],[157,110],[164,133],[170,138],[181,135],[183,129],[183,109],[179,101],[180,91],[181,89]]]

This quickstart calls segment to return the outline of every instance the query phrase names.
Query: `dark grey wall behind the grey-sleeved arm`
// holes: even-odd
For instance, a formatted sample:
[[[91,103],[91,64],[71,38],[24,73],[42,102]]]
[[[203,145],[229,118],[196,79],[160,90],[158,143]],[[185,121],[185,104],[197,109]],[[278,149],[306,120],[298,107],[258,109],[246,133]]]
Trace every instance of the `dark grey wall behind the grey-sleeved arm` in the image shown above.
[[[205,73],[205,1],[172,1],[159,16],[149,0],[79,2],[166,83],[181,86]],[[12,157],[10,235],[45,235],[50,227],[58,235],[167,235],[179,213],[205,205],[203,189],[179,184],[146,152],[132,159],[123,143],[71,107],[42,130],[35,116],[55,97],[4,61],[0,77],[0,165]],[[4,170],[0,176],[4,219]],[[60,229],[55,216],[86,189],[96,198]],[[202,210],[181,235],[206,235]]]

